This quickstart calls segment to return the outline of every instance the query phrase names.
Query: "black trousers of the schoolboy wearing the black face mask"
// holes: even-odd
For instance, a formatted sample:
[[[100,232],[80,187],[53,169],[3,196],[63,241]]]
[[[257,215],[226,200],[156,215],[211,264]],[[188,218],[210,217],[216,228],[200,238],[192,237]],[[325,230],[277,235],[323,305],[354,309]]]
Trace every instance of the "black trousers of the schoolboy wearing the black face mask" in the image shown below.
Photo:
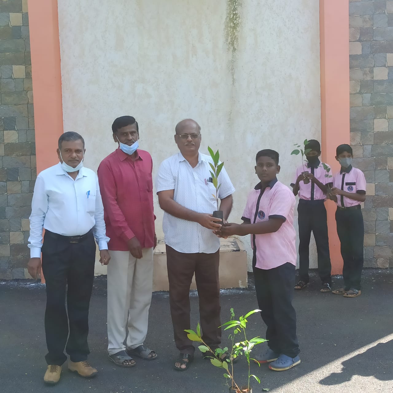
[[[309,252],[311,232],[314,233],[318,255],[318,274],[323,284],[331,284],[331,270],[329,252],[329,238],[327,235],[327,215],[323,201],[299,200],[299,279],[308,283]]]

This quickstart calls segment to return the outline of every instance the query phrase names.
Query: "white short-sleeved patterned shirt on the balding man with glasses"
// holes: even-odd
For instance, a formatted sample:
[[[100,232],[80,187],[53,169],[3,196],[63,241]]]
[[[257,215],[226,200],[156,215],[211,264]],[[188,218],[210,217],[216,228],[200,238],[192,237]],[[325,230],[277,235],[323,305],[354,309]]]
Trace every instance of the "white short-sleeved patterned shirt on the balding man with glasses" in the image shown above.
[[[206,154],[199,153],[198,164],[195,168],[181,153],[164,160],[156,178],[156,191],[174,190],[173,199],[178,204],[198,213],[213,213],[217,210],[213,183],[208,182],[211,177],[210,163],[213,160]],[[219,198],[231,195],[235,188],[226,173],[225,168],[219,174]],[[165,243],[174,250],[182,253],[216,252],[220,247],[219,238],[212,230],[204,228],[197,222],[179,219],[165,212],[162,228]]]

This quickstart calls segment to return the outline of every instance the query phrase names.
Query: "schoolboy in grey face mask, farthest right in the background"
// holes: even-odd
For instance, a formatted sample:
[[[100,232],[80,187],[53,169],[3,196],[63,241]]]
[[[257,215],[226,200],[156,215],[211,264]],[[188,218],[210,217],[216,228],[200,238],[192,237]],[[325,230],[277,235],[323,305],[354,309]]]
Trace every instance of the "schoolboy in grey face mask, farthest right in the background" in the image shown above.
[[[364,223],[360,203],[366,198],[366,180],[364,173],[351,165],[352,156],[351,146],[344,144],[337,147],[336,160],[341,169],[333,177],[334,187],[329,193],[329,198],[337,204],[337,233],[344,261],[344,286],[333,293],[346,298],[356,298],[361,294],[363,269]]]

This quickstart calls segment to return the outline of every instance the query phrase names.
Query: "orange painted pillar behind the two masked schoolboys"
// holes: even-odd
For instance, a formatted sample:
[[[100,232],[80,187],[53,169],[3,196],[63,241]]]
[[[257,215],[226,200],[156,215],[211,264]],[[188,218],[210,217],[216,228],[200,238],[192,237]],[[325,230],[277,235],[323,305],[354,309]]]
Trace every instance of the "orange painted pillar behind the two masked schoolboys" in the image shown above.
[[[349,143],[349,3],[320,0],[321,56],[321,149],[322,159],[340,169],[334,159],[336,147]],[[341,274],[343,261],[334,213],[326,202],[332,274]]]

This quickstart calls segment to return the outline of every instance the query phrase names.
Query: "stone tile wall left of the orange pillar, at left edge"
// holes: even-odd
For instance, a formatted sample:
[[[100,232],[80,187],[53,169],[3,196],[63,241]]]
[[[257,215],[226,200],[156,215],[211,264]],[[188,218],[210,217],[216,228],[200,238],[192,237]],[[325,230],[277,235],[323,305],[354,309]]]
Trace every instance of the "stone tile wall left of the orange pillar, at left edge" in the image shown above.
[[[36,178],[27,0],[0,1],[0,279],[27,277]]]

